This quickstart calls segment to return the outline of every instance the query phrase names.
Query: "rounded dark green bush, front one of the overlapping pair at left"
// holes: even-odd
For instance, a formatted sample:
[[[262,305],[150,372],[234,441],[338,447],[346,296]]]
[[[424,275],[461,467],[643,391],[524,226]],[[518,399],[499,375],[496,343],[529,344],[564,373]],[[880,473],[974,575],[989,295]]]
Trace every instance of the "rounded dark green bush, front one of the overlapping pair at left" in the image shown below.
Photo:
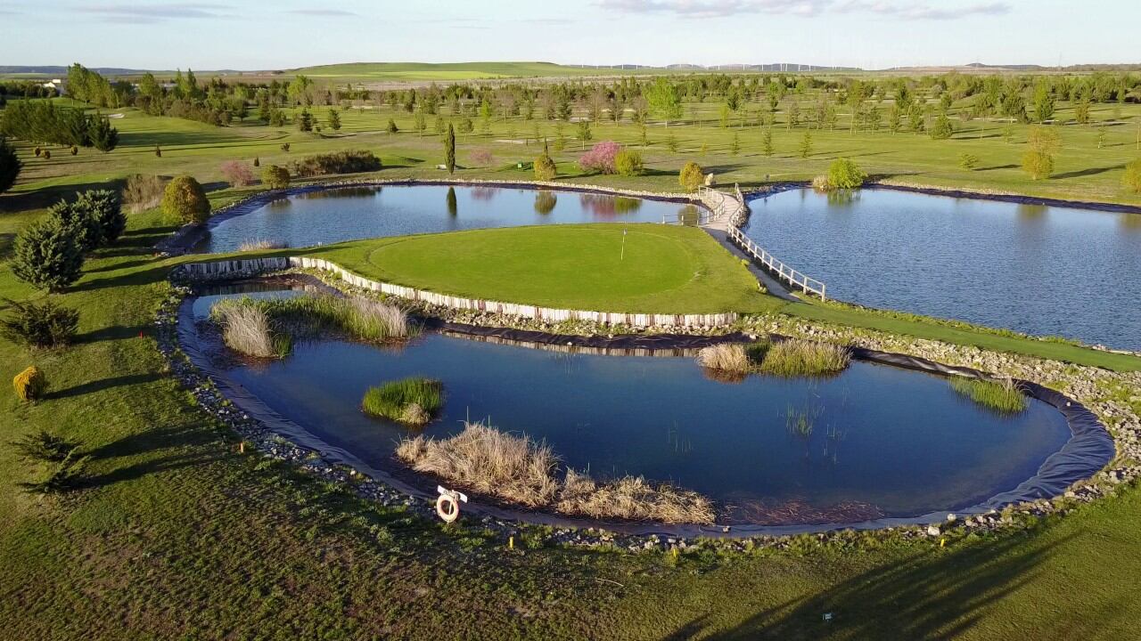
[[[79,279],[83,269],[71,230],[55,217],[24,227],[13,243],[9,265],[21,281],[49,292],[60,292]]]

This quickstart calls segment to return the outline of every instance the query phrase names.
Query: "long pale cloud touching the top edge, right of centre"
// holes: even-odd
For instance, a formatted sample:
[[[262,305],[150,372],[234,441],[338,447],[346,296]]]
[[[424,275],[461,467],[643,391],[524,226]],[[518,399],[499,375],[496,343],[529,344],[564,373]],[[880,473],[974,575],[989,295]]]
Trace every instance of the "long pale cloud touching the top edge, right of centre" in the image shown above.
[[[1010,11],[1008,2],[982,2],[947,7],[907,0],[598,0],[604,9],[634,14],[673,14],[687,18],[713,18],[741,14],[815,16],[824,13],[877,14],[900,19],[948,21],[973,15]]]

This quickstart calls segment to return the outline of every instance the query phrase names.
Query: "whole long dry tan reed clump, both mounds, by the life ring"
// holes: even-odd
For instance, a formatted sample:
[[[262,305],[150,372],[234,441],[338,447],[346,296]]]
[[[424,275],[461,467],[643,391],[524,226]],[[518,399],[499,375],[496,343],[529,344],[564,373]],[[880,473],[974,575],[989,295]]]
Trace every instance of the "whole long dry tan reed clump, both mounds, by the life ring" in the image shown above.
[[[704,496],[655,486],[642,477],[598,482],[567,470],[559,479],[558,457],[545,443],[483,423],[467,423],[461,433],[446,439],[406,438],[396,455],[416,471],[529,508],[596,519],[695,524],[714,519],[712,503]]]

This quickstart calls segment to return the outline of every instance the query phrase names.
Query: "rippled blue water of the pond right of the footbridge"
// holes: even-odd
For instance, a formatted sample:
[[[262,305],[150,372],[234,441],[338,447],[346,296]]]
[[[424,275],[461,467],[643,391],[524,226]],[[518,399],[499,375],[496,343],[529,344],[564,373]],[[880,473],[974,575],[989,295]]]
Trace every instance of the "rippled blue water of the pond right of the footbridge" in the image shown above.
[[[850,196],[751,201],[746,233],[840,300],[1141,350],[1141,214]]]

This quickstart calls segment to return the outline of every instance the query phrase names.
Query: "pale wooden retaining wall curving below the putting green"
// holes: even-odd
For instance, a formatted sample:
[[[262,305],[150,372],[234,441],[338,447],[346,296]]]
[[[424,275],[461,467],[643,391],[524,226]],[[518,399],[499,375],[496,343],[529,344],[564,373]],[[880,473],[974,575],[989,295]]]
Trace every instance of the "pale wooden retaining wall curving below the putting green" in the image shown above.
[[[626,311],[590,311],[583,309],[555,309],[534,305],[520,305],[495,300],[470,299],[418,290],[393,283],[371,281],[343,267],[321,258],[276,257],[191,262],[183,267],[184,274],[195,279],[224,279],[248,275],[283,271],[285,269],[319,269],[337,274],[350,285],[381,292],[408,300],[423,301],[448,309],[484,311],[518,316],[548,323],[565,320],[588,320],[604,325],[626,325],[630,327],[722,327],[738,319],[738,314],[636,314]]]

